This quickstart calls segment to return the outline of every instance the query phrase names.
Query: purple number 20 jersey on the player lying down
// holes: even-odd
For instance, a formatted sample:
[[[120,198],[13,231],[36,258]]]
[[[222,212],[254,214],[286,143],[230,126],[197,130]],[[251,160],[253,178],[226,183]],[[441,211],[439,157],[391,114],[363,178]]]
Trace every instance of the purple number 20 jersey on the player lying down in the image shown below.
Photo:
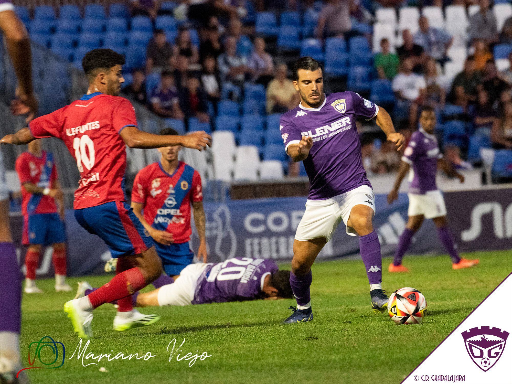
[[[272,260],[233,258],[209,264],[197,281],[192,304],[262,298],[263,281],[279,270]]]

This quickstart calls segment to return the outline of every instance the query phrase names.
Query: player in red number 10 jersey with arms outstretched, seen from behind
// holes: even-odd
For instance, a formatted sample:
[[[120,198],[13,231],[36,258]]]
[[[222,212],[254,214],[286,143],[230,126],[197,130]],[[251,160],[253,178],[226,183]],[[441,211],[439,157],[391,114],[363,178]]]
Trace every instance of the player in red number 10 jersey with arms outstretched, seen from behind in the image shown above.
[[[114,258],[119,258],[117,274],[109,283],[65,304],[64,309],[82,338],[92,337],[93,309],[113,301],[119,304],[114,330],[143,327],[159,319],[134,310],[130,297],[160,276],[162,264],[152,239],[125,202],[125,146],[182,145],[202,150],[211,139],[205,132],[163,136],[139,131],[132,104],[117,96],[124,82],[123,64],[124,56],[110,49],[88,52],[82,60],[89,79],[87,94],[0,140],[27,144],[36,138],[61,139],[74,156],[81,177],[75,192],[75,217],[108,245]]]

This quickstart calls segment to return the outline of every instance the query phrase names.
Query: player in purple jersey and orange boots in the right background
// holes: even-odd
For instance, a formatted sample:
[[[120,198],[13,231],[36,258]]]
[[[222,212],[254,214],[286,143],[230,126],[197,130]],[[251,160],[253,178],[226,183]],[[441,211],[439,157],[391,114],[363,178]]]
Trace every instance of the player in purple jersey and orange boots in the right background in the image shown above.
[[[452,233],[447,227],[446,206],[441,191],[437,189],[436,173],[439,166],[452,177],[457,177],[461,183],[464,176],[458,173],[439,153],[437,139],[434,136],[436,114],[431,107],[421,111],[420,128],[409,142],[403,153],[402,163],[396,175],[393,189],[388,195],[388,203],[398,198],[398,189],[403,178],[409,172],[409,222],[400,236],[393,263],[389,265],[390,272],[408,272],[402,265],[403,254],[411,245],[414,233],[421,227],[423,219],[432,219],[437,227],[439,240],[452,258],[453,269],[468,268],[478,264],[478,260],[461,259],[457,252]]]

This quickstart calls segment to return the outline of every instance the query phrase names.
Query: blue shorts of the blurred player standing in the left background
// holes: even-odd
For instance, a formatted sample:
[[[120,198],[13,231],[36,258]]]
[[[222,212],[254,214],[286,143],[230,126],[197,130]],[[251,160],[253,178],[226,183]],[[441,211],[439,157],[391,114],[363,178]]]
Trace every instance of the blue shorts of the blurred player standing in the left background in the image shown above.
[[[23,244],[51,245],[66,242],[58,214],[28,214],[23,217]]]

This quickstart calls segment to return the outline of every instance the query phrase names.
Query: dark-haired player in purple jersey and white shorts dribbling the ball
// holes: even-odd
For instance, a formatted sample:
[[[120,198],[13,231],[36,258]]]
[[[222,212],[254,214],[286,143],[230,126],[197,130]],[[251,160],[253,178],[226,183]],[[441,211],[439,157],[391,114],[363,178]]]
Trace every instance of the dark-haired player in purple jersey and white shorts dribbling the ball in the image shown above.
[[[373,189],[361,160],[358,117],[371,120],[395,143],[404,143],[389,114],[357,93],[324,94],[318,61],[302,57],[293,66],[293,85],[301,103],[281,117],[280,130],[286,153],[303,161],[311,187],[306,211],[295,233],[290,284],[298,310],[285,323],[310,321],[311,266],[343,220],[347,233],[359,236],[359,249],[370,282],[374,312],[383,312],[388,296],[382,290],[382,258],[377,232]]]

